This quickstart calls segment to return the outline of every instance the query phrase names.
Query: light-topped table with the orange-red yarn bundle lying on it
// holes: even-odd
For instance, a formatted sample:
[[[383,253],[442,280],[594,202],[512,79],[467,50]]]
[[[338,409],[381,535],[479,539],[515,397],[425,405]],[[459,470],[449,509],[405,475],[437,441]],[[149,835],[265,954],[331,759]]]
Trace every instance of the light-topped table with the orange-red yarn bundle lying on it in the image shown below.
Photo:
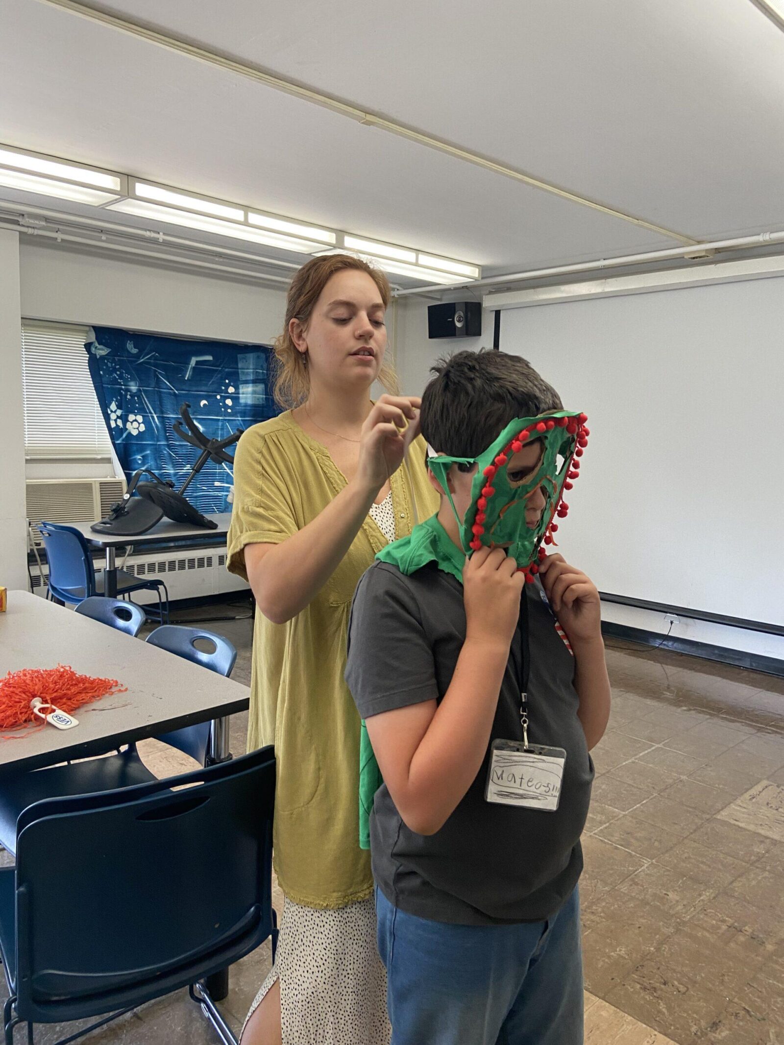
[[[41,596],[9,591],[8,608],[0,613],[0,677],[57,664],[82,675],[116,678],[128,692],[78,709],[72,729],[46,725],[18,730],[13,740],[0,734],[0,774],[101,754],[207,721],[212,722],[210,754],[220,762],[229,753],[228,716],[249,704],[250,691],[239,682]]]

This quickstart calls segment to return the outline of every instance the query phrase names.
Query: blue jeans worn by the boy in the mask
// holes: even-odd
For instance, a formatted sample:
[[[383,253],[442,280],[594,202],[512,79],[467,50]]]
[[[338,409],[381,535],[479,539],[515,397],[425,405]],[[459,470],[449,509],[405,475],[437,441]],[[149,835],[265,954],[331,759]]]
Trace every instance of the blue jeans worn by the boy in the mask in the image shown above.
[[[375,890],[392,1045],[582,1045],[577,888],[546,922],[431,922]]]

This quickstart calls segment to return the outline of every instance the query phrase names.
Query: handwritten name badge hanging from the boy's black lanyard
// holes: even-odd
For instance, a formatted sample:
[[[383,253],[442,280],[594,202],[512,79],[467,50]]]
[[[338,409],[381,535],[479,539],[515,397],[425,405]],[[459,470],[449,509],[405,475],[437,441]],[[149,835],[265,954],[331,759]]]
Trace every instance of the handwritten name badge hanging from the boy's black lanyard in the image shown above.
[[[500,806],[518,806],[554,813],[567,752],[562,747],[544,747],[515,740],[493,740],[485,799]]]

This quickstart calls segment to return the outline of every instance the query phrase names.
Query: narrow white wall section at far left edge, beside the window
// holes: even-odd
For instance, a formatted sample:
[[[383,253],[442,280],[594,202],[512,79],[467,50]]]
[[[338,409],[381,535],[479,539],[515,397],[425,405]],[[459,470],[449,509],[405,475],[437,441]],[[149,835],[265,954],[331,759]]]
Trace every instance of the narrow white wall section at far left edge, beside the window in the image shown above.
[[[19,236],[0,231],[0,585],[27,587]]]

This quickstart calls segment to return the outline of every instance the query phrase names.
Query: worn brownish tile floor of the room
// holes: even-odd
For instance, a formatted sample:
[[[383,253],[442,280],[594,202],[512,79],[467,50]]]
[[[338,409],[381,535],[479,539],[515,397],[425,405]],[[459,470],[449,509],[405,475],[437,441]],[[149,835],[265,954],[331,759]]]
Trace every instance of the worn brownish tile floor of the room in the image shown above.
[[[237,646],[233,678],[247,684],[251,622],[204,626]],[[615,641],[607,660],[580,886],[585,1045],[784,1045],[784,679]],[[232,721],[234,751],[246,722]],[[155,741],[142,749],[159,775],[192,765]],[[266,944],[232,968],[222,1007],[237,1031],[269,965]],[[185,992],[87,1040],[216,1042]]]

